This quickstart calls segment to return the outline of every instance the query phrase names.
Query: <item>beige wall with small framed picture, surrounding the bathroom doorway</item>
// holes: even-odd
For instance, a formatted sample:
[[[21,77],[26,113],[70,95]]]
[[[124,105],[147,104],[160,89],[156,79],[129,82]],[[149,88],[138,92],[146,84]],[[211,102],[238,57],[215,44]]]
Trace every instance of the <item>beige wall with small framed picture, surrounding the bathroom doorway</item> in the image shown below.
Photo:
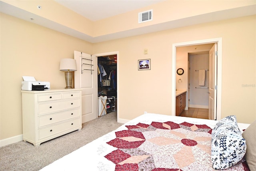
[[[144,111],[171,115],[172,44],[221,37],[221,117],[236,115],[238,122],[251,123],[256,119],[255,30],[256,16],[248,16],[97,43],[93,53],[119,51],[121,119]],[[151,70],[138,71],[138,60],[148,58]]]

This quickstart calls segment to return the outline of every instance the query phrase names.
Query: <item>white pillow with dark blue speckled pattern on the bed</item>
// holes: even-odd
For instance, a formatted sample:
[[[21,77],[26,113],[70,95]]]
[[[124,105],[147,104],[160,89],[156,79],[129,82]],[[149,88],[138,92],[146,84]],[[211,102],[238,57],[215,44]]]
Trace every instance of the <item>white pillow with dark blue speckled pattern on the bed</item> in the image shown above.
[[[212,167],[227,169],[238,163],[245,152],[246,143],[238,128],[236,116],[221,119],[212,130]]]

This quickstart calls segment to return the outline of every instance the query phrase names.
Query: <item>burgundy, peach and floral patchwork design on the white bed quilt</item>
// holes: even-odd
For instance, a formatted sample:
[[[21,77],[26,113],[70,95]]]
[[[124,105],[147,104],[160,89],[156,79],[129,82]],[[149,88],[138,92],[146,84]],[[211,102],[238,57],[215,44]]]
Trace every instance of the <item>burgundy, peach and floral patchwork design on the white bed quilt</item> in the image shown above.
[[[116,171],[212,171],[211,132],[207,125],[172,121],[126,125],[107,144],[117,149],[104,157]],[[248,171],[246,161],[226,171]]]

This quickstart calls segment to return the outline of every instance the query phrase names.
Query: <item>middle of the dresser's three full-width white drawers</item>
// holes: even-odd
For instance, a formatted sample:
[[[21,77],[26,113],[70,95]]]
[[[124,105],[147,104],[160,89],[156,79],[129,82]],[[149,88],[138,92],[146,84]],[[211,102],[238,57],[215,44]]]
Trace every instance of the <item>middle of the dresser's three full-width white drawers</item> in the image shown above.
[[[38,127],[50,125],[53,123],[65,121],[80,116],[80,109],[54,113],[51,115],[43,115],[38,117]]]

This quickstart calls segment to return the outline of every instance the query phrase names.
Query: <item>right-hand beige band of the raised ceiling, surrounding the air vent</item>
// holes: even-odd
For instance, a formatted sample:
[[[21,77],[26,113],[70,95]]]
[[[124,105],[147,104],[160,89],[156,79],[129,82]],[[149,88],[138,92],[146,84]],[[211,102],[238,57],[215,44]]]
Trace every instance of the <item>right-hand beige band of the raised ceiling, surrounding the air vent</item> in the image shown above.
[[[255,3],[254,0],[166,0],[138,10],[96,21],[94,22],[94,36],[173,22],[211,12],[250,6]],[[138,24],[138,13],[150,9],[153,10],[153,20]]]

